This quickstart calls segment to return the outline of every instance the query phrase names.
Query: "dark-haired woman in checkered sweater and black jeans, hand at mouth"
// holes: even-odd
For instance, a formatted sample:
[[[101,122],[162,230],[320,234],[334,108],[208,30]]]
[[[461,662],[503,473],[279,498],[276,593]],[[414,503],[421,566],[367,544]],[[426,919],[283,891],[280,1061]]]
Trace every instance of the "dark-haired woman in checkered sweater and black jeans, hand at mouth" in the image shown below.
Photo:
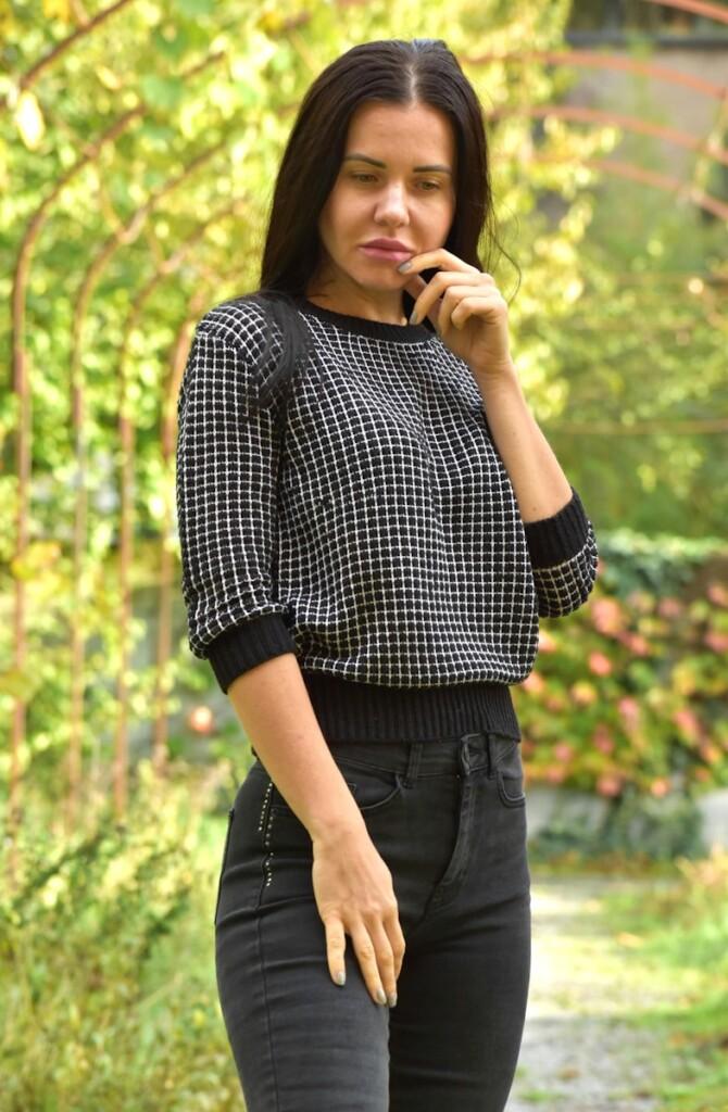
[[[302,103],[259,290],[205,315],[185,370],[189,645],[256,756],[214,916],[248,1112],[500,1112],[511,1089],[531,921],[509,685],[597,548],[519,385],[492,224],[453,54],[357,46]]]

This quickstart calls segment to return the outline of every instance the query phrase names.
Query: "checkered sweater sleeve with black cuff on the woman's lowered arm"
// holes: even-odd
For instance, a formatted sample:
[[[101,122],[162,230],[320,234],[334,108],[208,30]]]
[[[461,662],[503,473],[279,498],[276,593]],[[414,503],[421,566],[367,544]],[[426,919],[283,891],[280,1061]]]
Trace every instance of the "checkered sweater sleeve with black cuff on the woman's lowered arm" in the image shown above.
[[[179,391],[176,497],[189,647],[227,692],[294,644],[272,579],[275,414],[247,401],[259,329],[249,318],[233,330],[211,314],[197,325]]]

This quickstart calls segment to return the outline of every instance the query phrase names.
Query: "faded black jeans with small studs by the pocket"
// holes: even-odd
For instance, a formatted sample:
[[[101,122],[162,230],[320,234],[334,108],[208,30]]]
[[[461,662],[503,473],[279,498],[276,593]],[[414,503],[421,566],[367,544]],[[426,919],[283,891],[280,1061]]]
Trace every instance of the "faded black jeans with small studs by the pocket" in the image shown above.
[[[375,1004],[346,941],[334,984],[311,837],[259,761],[215,907],[220,1006],[248,1112],[502,1112],[531,972],[521,747],[498,734],[331,751],[392,872],[406,951]]]

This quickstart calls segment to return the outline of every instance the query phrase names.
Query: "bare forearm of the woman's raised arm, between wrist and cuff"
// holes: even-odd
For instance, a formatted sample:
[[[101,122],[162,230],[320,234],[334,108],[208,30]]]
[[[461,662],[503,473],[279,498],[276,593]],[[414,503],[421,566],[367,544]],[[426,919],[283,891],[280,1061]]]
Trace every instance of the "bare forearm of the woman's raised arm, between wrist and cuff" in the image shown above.
[[[512,373],[474,378],[522,520],[553,516],[571,498],[571,486],[528,407],[515,367]]]

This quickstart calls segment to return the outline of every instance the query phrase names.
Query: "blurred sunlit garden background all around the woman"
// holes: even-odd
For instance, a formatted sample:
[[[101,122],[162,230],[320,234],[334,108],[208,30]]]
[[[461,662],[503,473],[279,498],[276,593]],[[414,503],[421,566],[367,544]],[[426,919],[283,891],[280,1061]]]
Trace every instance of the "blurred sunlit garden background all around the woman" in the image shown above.
[[[728,1109],[728,3],[43,0],[0,8],[2,1112],[243,1108],[211,921],[250,754],[187,645],[177,393],[308,85],[415,37],[483,103],[513,356],[601,555],[515,689],[509,1112]]]

